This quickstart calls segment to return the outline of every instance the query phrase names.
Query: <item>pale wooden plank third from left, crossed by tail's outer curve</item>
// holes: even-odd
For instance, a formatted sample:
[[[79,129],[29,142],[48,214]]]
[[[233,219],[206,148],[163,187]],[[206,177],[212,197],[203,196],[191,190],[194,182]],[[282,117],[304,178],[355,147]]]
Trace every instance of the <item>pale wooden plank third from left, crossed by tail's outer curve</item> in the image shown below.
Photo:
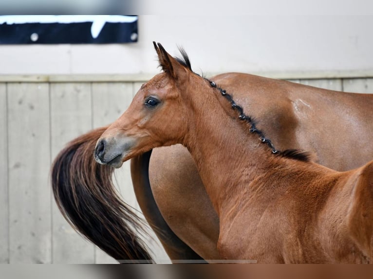
[[[92,129],[91,85],[51,84],[51,150],[58,152],[77,136]],[[53,262],[93,263],[93,244],[67,223],[52,201]]]

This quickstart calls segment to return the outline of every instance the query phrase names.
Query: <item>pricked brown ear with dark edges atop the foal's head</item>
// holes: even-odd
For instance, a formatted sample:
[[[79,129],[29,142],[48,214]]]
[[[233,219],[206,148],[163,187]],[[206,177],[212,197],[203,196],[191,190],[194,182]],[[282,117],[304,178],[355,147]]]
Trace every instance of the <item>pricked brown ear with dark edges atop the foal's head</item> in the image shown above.
[[[169,55],[160,43],[153,42],[153,45],[158,54],[158,60],[162,70],[175,80],[183,80],[183,77],[186,76],[186,68]]]

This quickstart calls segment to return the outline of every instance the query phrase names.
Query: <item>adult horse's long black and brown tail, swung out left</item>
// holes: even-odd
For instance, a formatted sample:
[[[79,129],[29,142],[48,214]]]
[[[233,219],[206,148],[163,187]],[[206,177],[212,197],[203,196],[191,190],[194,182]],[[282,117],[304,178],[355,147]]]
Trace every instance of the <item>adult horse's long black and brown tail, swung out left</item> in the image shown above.
[[[153,262],[135,234],[145,223],[121,200],[112,183],[114,169],[93,158],[96,141],[107,127],[71,141],[52,165],[52,188],[66,220],[88,240],[119,262]]]

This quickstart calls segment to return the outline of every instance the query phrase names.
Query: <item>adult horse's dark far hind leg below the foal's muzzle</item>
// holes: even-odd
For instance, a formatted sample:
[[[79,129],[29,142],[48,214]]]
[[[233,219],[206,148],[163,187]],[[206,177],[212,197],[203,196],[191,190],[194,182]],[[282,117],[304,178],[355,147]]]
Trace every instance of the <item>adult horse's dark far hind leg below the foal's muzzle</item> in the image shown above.
[[[131,159],[131,177],[136,199],[150,227],[172,260],[203,260],[168,227],[154,200],[149,182],[149,159],[152,151]]]

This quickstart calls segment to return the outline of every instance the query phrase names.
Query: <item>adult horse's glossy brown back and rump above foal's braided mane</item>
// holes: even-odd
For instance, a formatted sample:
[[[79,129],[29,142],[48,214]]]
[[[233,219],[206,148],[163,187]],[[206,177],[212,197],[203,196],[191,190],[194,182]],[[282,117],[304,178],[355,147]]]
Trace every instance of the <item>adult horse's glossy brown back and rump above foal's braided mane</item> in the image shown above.
[[[358,168],[373,158],[373,94],[244,73],[212,80],[233,95],[278,150],[307,150],[317,163],[337,171]]]

